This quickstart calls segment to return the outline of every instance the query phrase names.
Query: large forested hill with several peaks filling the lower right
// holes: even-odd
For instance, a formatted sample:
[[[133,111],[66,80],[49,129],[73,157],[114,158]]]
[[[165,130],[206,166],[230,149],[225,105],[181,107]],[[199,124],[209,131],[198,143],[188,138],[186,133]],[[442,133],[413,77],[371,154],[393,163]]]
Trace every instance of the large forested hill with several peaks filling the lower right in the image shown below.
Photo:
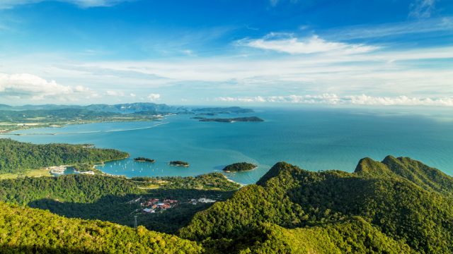
[[[362,159],[352,174],[280,162],[180,236],[233,252],[452,253],[452,183],[403,157]]]

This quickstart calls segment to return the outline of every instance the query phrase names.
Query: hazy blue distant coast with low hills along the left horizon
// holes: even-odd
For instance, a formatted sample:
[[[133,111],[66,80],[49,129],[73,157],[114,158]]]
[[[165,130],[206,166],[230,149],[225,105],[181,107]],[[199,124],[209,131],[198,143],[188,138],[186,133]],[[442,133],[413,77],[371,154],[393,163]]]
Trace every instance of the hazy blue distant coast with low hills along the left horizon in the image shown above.
[[[69,124],[119,122],[119,121],[159,121],[171,114],[193,114],[195,116],[216,116],[217,114],[252,113],[253,109],[241,107],[190,108],[136,102],[128,104],[91,105],[23,105],[0,104],[0,134],[28,128],[62,127]]]

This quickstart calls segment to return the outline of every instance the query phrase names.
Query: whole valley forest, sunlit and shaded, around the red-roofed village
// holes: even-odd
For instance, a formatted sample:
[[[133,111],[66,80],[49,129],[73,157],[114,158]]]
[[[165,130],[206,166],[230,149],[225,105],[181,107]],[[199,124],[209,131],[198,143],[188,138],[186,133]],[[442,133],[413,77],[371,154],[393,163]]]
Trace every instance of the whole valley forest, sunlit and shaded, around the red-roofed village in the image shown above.
[[[0,200],[50,210],[65,217],[101,219],[127,226],[134,226],[134,215],[138,215],[139,225],[147,229],[175,233],[196,212],[212,205],[193,205],[191,199],[226,200],[237,188],[238,184],[219,173],[159,179],[76,174],[0,181]],[[171,198],[180,204],[159,214],[137,213],[142,207],[130,200],[140,197]]]

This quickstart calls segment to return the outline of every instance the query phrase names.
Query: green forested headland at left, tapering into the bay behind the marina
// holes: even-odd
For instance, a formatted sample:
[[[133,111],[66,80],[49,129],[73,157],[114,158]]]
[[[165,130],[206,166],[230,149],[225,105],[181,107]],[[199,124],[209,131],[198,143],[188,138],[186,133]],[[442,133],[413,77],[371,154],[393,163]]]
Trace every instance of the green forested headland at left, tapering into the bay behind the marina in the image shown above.
[[[0,138],[0,174],[64,164],[95,164],[128,156],[126,152],[93,148],[91,145],[35,145]]]

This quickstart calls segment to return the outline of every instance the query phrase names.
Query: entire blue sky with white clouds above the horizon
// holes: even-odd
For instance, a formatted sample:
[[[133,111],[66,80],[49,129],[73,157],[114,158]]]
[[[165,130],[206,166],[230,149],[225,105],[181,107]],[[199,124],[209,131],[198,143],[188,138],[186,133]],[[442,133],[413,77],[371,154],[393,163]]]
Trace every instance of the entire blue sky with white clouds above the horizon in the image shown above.
[[[0,0],[0,103],[453,107],[452,0]]]

